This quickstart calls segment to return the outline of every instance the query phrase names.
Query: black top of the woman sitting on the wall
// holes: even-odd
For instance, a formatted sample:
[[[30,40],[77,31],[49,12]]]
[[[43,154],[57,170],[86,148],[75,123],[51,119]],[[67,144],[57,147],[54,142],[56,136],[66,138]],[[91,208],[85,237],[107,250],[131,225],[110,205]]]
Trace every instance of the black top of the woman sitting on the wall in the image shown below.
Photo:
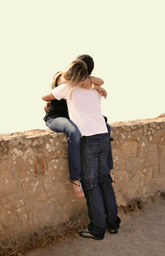
[[[59,77],[60,77],[60,75],[59,75]],[[58,78],[57,78],[57,80],[58,80]],[[55,87],[57,87],[57,86],[58,86],[58,84],[56,83]],[[53,84],[52,84],[52,89],[53,89]],[[48,111],[46,112],[46,115],[44,117],[45,122],[47,122],[47,119],[48,119],[49,116],[53,116],[53,115],[66,116],[66,117],[69,118],[68,107],[67,107],[67,103],[66,103],[65,100],[63,100],[63,99],[60,100],[60,101],[52,100],[50,102]]]

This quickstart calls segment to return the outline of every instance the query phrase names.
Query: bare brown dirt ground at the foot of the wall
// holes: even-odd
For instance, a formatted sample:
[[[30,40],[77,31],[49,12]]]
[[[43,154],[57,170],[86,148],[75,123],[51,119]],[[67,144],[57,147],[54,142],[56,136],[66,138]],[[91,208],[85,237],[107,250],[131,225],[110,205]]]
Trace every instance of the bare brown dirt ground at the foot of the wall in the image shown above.
[[[45,249],[26,256],[165,256],[165,201],[146,204],[142,210],[119,213],[121,228],[118,234],[106,231],[102,241],[67,237]]]

